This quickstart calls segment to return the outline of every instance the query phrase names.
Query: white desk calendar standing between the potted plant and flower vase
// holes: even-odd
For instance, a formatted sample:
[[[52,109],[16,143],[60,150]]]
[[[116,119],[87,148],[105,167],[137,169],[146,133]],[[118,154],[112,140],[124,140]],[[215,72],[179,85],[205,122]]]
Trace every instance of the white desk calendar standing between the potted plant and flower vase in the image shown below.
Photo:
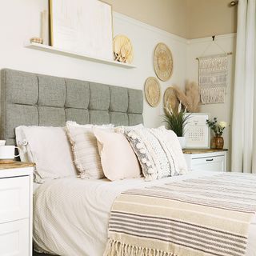
[[[210,128],[206,120],[210,114],[192,113],[185,126],[185,138],[187,149],[209,149]]]

